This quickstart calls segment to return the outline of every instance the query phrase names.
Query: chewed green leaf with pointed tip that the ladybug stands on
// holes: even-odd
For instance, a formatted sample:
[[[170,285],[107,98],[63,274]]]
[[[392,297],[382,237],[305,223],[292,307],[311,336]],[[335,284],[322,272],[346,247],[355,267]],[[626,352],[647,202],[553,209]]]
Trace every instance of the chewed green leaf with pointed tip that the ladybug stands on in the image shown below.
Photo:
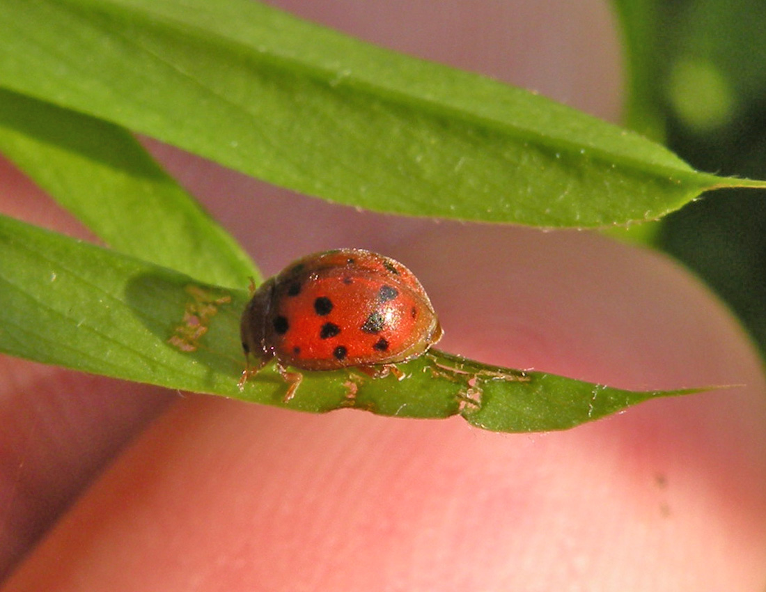
[[[560,430],[651,397],[429,352],[403,375],[264,368],[244,389],[238,335],[248,295],[0,216],[0,352],[168,388],[297,410],[357,407],[398,417],[462,414],[488,430]]]

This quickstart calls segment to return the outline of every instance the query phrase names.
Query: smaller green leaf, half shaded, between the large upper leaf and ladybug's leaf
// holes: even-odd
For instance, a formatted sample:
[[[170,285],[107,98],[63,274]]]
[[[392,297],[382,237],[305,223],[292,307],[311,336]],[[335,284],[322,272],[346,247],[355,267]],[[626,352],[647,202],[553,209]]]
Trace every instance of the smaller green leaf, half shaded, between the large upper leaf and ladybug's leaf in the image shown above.
[[[0,90],[0,151],[123,253],[246,286],[241,247],[124,129]]]

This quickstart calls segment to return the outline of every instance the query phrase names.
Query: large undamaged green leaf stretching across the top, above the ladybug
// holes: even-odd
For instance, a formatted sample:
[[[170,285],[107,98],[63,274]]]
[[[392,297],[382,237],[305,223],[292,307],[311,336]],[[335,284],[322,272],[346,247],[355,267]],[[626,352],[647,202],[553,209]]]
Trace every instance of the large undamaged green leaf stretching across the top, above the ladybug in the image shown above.
[[[5,0],[0,30],[0,87],[362,208],[598,227],[764,186],[250,0]]]

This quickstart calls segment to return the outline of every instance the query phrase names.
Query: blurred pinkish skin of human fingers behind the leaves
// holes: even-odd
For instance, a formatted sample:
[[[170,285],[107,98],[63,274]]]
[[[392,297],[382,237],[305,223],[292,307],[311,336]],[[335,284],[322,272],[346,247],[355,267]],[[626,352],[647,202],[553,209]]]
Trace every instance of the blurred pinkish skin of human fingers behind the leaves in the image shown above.
[[[618,117],[600,2],[281,5]],[[624,388],[746,386],[507,435],[0,358],[2,592],[764,589],[761,363],[676,263],[594,234],[363,214],[152,149],[266,273],[329,247],[403,261],[447,350]],[[9,165],[0,210],[82,234]]]

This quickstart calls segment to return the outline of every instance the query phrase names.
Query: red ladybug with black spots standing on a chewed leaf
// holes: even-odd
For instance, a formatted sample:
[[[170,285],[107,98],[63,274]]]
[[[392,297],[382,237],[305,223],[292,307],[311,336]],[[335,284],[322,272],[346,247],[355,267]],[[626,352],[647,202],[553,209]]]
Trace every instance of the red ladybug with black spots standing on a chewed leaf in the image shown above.
[[[295,394],[303,374],[357,367],[396,374],[442,335],[423,286],[398,261],[362,249],[315,253],[254,290],[240,325],[247,368],[240,388],[272,359]],[[250,356],[254,364],[250,365]]]

